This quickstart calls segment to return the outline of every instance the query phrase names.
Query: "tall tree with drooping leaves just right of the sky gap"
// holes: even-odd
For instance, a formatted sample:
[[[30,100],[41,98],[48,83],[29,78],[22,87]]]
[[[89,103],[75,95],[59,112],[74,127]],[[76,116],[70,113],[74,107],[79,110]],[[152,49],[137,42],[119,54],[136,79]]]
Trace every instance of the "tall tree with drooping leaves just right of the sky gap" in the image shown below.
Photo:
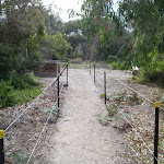
[[[90,40],[91,60],[93,60],[93,50],[97,38],[99,38],[99,33],[107,28],[107,22],[115,16],[112,5],[112,0],[84,0],[82,4],[82,20],[85,34]]]

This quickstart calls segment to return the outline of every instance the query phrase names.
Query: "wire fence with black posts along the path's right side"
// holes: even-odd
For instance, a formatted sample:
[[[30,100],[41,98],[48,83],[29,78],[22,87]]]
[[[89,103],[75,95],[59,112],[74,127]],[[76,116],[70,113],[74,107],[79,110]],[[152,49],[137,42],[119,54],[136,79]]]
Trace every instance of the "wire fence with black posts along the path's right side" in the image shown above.
[[[90,74],[92,74],[92,67],[91,67],[91,62],[90,62]],[[93,63],[93,77],[94,77],[94,83],[96,83],[96,68],[103,70],[104,68],[102,68],[97,63]],[[124,114],[124,112],[121,110],[121,108],[119,107],[119,105],[113,99],[113,97],[110,96],[110,99],[114,102],[115,106],[117,107],[117,109],[120,112],[120,114],[122,115],[124,119],[130,125],[131,129],[134,131],[134,133],[138,136],[138,138],[142,141],[142,143],[145,145],[145,148],[148,149],[148,151],[150,152],[150,154],[153,156],[154,159],[154,164],[161,164],[160,160],[159,160],[159,113],[160,109],[164,110],[163,107],[160,106],[160,102],[152,102],[151,99],[149,99],[148,97],[145,97],[144,95],[142,95],[141,93],[139,93],[138,91],[136,91],[134,89],[130,87],[128,84],[125,84],[122,81],[113,78],[110,73],[108,73],[106,70],[104,71],[104,103],[107,107],[107,80],[106,77],[109,75],[109,79],[113,79],[115,81],[117,81],[119,84],[121,84],[122,86],[128,87],[129,90],[133,91],[134,93],[137,93],[140,97],[142,97],[143,99],[148,101],[149,103],[151,103],[152,105],[154,105],[155,108],[155,126],[154,126],[154,151],[152,151],[149,145],[145,143],[145,141],[143,140],[142,136],[138,132],[136,126],[127,118],[127,116]],[[114,85],[114,84],[113,84]]]

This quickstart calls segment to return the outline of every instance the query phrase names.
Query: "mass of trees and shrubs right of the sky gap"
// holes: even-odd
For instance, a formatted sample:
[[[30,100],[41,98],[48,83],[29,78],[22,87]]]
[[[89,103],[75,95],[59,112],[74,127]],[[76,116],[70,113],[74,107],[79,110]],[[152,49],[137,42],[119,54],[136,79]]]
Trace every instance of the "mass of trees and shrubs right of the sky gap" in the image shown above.
[[[164,3],[162,0],[84,0],[82,20],[92,60],[114,69],[140,68],[147,82],[163,83]]]

